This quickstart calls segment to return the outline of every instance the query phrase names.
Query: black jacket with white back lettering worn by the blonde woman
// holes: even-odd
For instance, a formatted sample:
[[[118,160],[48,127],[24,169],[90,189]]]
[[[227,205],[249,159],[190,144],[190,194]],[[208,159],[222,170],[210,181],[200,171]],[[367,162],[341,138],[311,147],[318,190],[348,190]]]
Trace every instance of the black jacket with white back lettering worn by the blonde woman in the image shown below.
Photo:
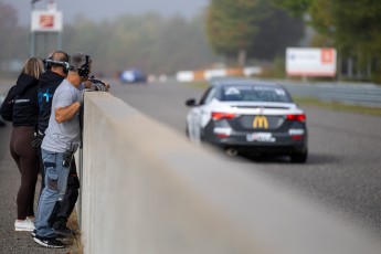
[[[38,85],[33,76],[21,73],[18,77],[13,106],[13,127],[35,126],[39,116]]]

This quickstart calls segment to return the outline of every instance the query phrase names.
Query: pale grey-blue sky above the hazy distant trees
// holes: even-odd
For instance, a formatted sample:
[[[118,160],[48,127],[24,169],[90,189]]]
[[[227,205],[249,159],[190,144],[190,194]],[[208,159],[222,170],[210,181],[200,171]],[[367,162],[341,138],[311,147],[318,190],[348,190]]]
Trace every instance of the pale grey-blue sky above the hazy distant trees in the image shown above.
[[[0,0],[15,8],[20,24],[29,24],[31,0]],[[50,0],[34,3],[35,10],[46,10]],[[76,14],[83,14],[94,21],[113,20],[121,14],[144,14],[157,12],[165,17],[180,14],[187,19],[200,13],[209,0],[55,0],[56,9],[63,13],[64,23],[74,23]]]

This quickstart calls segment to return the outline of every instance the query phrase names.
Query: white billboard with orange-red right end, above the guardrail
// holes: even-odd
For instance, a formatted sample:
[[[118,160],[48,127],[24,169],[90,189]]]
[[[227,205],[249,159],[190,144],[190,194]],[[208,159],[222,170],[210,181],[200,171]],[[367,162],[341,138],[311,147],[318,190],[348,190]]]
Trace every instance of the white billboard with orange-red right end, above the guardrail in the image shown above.
[[[337,65],[335,49],[287,47],[288,76],[335,76]]]

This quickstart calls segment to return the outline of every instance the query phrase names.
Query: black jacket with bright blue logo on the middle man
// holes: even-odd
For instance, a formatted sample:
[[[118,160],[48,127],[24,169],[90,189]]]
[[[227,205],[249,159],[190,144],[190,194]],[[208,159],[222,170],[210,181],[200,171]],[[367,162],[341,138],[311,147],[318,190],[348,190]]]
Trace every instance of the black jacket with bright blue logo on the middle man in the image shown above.
[[[60,74],[47,71],[40,75],[39,77],[39,120],[38,128],[41,133],[45,133],[49,125],[49,118],[52,112],[52,100],[55,89],[59,87],[64,76]]]

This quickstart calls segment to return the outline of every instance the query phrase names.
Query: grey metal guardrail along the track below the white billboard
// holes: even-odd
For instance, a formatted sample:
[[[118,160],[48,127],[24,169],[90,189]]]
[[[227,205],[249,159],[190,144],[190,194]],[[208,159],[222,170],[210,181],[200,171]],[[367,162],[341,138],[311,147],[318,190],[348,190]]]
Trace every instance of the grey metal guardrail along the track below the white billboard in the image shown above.
[[[295,96],[381,108],[381,86],[375,84],[278,83]]]

